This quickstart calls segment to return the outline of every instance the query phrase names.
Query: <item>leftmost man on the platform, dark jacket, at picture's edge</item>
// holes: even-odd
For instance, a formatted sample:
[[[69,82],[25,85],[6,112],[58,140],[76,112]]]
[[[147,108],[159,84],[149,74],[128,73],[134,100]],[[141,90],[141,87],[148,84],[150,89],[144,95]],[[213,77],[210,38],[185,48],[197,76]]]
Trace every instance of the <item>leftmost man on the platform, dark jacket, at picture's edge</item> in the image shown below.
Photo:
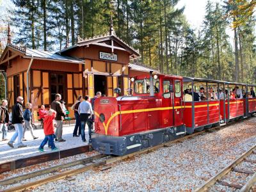
[[[7,124],[9,122],[9,112],[7,106],[8,101],[2,100],[2,106],[0,107],[0,131],[3,131],[2,141],[7,140]]]

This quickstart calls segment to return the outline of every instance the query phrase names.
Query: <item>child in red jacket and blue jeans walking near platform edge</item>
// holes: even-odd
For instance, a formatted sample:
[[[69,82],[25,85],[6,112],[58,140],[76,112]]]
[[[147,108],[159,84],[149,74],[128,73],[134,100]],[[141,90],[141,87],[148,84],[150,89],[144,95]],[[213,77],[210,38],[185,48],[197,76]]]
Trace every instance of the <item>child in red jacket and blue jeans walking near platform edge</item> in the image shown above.
[[[49,145],[51,146],[52,150],[59,150],[55,145],[54,145],[54,127],[53,127],[53,122],[54,118],[56,117],[56,111],[53,109],[50,109],[48,111],[48,115],[45,115],[44,118],[44,134],[45,138],[42,141],[40,147],[38,148],[38,151],[44,152],[44,145],[47,143],[49,140]]]

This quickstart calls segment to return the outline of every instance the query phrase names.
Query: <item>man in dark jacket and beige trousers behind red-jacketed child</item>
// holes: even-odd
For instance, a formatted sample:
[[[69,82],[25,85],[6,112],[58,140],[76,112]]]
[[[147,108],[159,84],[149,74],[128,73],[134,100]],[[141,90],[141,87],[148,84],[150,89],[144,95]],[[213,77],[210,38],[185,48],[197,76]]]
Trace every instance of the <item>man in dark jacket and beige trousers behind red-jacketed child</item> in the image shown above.
[[[63,138],[62,138],[63,122],[62,122],[61,116],[65,116],[65,113],[63,112],[60,100],[61,100],[61,95],[56,94],[55,95],[55,100],[52,101],[51,108],[54,111],[56,111],[56,113],[57,113],[56,118],[55,118],[56,123],[57,123],[55,135],[56,135],[57,138],[55,139],[55,141],[63,142],[63,141],[66,141],[66,140],[63,140]]]

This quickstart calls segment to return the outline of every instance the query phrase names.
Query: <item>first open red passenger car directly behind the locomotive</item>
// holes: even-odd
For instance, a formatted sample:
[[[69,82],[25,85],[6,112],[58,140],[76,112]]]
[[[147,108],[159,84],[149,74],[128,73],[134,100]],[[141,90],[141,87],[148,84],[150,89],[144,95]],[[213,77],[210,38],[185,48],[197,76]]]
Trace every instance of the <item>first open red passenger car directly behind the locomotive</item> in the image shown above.
[[[184,77],[184,90],[190,90],[191,100],[184,98],[184,124],[188,134],[220,125],[220,94],[224,82]],[[221,91],[221,92],[220,92]]]

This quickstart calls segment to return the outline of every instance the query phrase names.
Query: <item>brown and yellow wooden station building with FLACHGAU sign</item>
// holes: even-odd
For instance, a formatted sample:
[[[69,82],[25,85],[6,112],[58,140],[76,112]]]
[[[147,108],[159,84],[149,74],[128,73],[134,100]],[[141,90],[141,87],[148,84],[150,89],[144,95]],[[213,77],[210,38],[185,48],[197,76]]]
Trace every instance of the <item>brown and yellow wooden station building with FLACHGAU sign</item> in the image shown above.
[[[78,37],[77,44],[59,52],[26,49],[13,45],[8,29],[8,45],[0,58],[0,70],[6,77],[9,108],[21,95],[33,104],[36,118],[42,104],[49,106],[60,93],[70,111],[78,95],[93,97],[100,91],[116,97],[115,88],[127,95],[129,77],[148,74],[152,68],[131,64],[140,54],[115,35],[113,25],[106,35],[89,39]]]

